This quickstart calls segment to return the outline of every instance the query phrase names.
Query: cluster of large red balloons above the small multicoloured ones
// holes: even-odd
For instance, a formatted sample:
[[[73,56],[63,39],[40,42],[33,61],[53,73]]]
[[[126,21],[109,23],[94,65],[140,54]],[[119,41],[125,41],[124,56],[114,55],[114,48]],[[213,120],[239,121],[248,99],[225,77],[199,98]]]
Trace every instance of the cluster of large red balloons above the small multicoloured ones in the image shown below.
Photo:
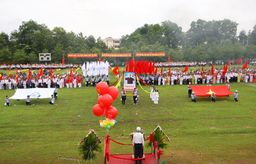
[[[114,86],[108,87],[106,82],[101,81],[96,85],[96,91],[101,96],[98,98],[98,104],[92,108],[93,113],[96,116],[104,114],[106,118],[114,119],[117,115],[117,109],[111,105],[119,94],[118,89]]]

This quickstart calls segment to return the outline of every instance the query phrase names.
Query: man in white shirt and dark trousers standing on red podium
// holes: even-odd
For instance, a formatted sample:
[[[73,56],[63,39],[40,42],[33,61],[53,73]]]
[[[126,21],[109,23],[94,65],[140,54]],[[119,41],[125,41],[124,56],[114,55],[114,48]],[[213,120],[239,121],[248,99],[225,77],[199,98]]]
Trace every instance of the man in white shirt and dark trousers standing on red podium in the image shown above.
[[[141,127],[137,127],[137,132],[134,134],[133,137],[133,146],[134,146],[134,158],[142,158],[143,153],[143,147],[144,147],[144,136],[142,133],[140,133]],[[136,164],[138,164],[138,160],[135,161]],[[139,164],[142,164],[142,159],[139,160]]]

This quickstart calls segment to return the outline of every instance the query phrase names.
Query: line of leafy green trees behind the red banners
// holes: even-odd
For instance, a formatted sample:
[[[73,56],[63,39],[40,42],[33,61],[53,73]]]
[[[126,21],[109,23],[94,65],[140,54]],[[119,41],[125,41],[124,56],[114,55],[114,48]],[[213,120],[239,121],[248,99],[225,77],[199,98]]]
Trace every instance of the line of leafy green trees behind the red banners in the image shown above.
[[[162,57],[136,57],[138,60],[168,61],[227,61],[229,58],[256,59],[256,24],[252,31],[241,30],[237,35],[235,21],[229,19],[192,21],[187,32],[170,20],[145,24],[131,34],[121,36],[120,48],[107,47],[102,39],[67,32],[63,27],[52,30],[34,20],[23,21],[10,35],[0,33],[1,63],[38,63],[39,53],[51,53],[52,62],[79,63],[84,58],[67,58],[67,53],[166,52]],[[126,61],[131,57],[102,57],[110,62]],[[86,58],[97,60],[97,58]]]

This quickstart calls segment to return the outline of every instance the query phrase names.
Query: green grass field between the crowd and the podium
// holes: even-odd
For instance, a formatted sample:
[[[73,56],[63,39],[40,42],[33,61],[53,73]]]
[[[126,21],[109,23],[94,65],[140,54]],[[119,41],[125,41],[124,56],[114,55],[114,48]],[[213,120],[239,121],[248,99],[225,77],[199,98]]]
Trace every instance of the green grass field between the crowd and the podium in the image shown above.
[[[116,80],[112,72],[110,78],[110,84]],[[137,105],[132,96],[122,105],[119,95],[112,104],[118,110],[118,123],[109,131],[99,126],[100,117],[92,113],[98,97],[95,88],[84,84],[61,88],[54,105],[49,99],[32,99],[35,105],[31,106],[25,100],[11,100],[11,106],[4,106],[5,96],[12,96],[14,90],[0,90],[0,163],[78,163],[58,160],[58,156],[81,159],[77,143],[90,129],[101,140],[109,134],[131,143],[129,134],[137,126],[149,134],[158,124],[171,139],[163,154],[167,163],[255,163],[256,83],[230,83],[231,91],[239,92],[238,102],[230,95],[217,97],[215,103],[208,97],[197,97],[198,102],[191,103],[186,85],[157,88],[159,104],[141,88]],[[202,155],[197,155],[199,151]],[[174,157],[170,157],[172,152]],[[111,153],[133,153],[133,148],[111,142]],[[103,159],[103,152],[97,153],[96,163],[104,163]]]

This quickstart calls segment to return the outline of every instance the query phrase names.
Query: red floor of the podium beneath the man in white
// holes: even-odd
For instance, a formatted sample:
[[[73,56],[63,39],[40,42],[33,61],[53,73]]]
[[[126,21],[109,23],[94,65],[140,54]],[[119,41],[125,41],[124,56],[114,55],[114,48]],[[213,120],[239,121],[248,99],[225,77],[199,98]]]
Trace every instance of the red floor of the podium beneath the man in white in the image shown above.
[[[152,154],[151,153],[145,153],[145,157],[150,156],[150,155],[152,155]],[[132,154],[118,154],[118,155],[114,155],[114,156],[132,159]],[[143,164],[154,164],[155,163],[155,156],[143,159],[142,161],[143,161]],[[109,164],[134,164],[135,160],[118,159],[118,158],[114,158],[114,157],[109,156],[108,163]]]

